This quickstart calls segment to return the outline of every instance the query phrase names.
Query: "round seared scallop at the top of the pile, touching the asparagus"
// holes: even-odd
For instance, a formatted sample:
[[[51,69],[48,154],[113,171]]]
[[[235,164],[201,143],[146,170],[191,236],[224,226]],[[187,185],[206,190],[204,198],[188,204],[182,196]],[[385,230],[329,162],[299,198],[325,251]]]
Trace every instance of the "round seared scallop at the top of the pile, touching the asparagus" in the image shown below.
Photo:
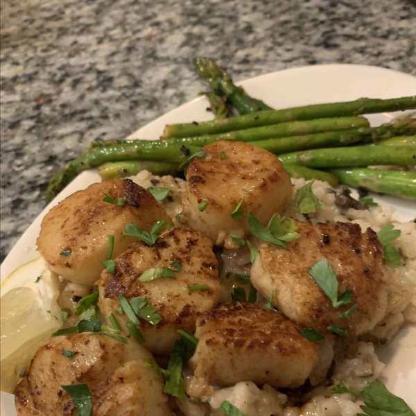
[[[275,155],[241,141],[216,141],[187,170],[182,197],[189,225],[217,245],[233,248],[231,236],[248,233],[249,212],[263,225],[283,214],[291,199],[291,179]],[[242,202],[241,202],[242,201]],[[241,202],[241,218],[232,213]],[[205,207],[205,209],[204,209]],[[234,247],[237,248],[237,247]]]

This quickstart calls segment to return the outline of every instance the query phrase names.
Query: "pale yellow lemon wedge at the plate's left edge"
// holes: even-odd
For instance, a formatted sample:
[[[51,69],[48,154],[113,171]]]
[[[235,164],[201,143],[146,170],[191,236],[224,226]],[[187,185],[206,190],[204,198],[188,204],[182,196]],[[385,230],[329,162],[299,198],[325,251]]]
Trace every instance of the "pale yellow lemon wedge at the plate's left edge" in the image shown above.
[[[12,393],[37,349],[62,327],[58,275],[42,257],[17,268],[1,284],[1,390]]]

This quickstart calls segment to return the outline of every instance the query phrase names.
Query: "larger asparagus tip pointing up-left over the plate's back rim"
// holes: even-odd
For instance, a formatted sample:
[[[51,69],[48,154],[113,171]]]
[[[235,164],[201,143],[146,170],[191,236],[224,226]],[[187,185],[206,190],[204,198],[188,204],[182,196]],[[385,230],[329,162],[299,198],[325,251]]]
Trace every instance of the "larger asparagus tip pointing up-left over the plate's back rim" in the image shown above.
[[[240,114],[273,110],[263,101],[251,98],[243,89],[236,87],[229,73],[218,67],[211,58],[194,58],[192,62],[198,76],[206,80],[213,91],[219,92],[232,103]]]

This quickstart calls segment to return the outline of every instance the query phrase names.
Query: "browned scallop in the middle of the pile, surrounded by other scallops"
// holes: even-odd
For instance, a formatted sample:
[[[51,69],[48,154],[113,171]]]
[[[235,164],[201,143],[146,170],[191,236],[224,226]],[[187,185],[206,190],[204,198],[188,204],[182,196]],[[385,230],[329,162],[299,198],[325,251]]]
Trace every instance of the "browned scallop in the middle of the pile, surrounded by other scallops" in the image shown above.
[[[98,306],[106,316],[113,312],[120,322],[126,322],[127,316],[116,312],[119,295],[127,300],[148,300],[161,320],[154,325],[140,318],[139,329],[146,340],[145,347],[154,354],[168,354],[179,338],[177,330],[193,332],[197,314],[211,310],[220,299],[218,261],[212,242],[193,229],[166,231],[154,245],[138,243],[115,262],[114,272],[104,270],[98,282]],[[171,277],[139,280],[146,270],[155,268],[177,271]]]

